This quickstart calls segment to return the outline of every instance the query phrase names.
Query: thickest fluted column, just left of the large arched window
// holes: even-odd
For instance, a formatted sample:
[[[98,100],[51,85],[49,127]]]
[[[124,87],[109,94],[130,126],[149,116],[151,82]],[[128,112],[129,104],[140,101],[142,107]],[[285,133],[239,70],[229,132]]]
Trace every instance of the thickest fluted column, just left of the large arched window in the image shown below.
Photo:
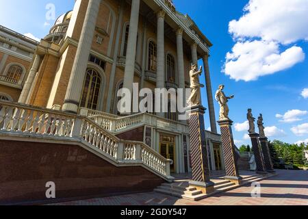
[[[77,113],[101,0],[90,0],[62,110]]]

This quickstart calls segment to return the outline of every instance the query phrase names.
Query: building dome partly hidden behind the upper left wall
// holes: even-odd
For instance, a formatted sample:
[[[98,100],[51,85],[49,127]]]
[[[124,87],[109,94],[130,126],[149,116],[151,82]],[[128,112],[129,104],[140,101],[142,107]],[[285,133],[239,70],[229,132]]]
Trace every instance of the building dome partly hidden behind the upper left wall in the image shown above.
[[[49,42],[59,43],[65,36],[72,17],[73,11],[61,14],[56,20],[53,27],[51,27],[49,34],[44,38]]]

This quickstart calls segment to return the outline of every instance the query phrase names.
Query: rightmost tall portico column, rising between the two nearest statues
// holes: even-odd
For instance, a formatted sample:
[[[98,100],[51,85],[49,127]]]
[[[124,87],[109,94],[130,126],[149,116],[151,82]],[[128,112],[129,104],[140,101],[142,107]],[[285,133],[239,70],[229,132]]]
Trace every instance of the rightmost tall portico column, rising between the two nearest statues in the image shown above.
[[[207,103],[209,107],[209,121],[211,123],[211,131],[217,133],[216,118],[213,101],[213,91],[211,88],[211,76],[209,75],[209,55],[203,56],[203,66],[205,70],[205,83],[207,87]]]

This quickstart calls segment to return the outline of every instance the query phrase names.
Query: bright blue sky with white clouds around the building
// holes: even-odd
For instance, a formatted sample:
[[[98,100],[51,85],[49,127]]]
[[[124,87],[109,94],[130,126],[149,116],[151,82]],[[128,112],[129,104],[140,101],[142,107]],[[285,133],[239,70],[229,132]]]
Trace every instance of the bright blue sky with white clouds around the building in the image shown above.
[[[307,1],[296,1],[298,5],[292,5],[292,1],[287,0],[252,0],[251,11],[246,12],[243,9],[248,0],[174,2],[177,10],[189,14],[214,44],[209,60],[213,91],[223,83],[226,94],[235,94],[229,107],[230,118],[238,123],[233,127],[236,143],[249,143],[244,139],[248,130],[244,124],[248,108],[253,109],[256,118],[259,113],[264,114],[266,131],[271,140],[308,142],[308,95],[301,95],[308,88]],[[45,16],[48,3],[55,5],[58,16],[71,10],[74,0],[10,0],[9,3],[0,0],[0,25],[21,34],[30,33],[43,38],[54,22],[48,21]],[[285,11],[290,7],[301,10],[288,14]],[[233,21],[231,33],[230,21]],[[232,53],[235,44],[237,47]],[[227,53],[231,55],[222,72]],[[260,67],[260,63],[264,65]],[[205,83],[204,77],[202,80]],[[205,90],[203,98],[203,103],[207,103]],[[218,118],[217,103],[215,107]],[[206,114],[207,127],[208,117]]]

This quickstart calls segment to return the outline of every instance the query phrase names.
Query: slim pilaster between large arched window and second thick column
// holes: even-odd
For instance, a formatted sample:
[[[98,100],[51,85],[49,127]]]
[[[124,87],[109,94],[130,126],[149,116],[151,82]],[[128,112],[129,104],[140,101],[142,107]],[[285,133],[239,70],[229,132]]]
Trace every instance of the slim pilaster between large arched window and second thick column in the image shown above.
[[[120,47],[120,36],[121,36],[121,29],[123,27],[123,12],[124,12],[124,1],[120,1],[120,12],[118,14],[118,27],[116,29],[116,43],[114,44],[114,55],[113,55],[113,63],[112,63],[112,70],[110,73],[110,81],[109,81],[109,88],[108,88],[108,96],[107,96],[107,106],[106,112],[110,113],[111,105],[112,105],[112,96],[114,96],[114,78],[116,75],[116,62],[118,59],[118,49]]]

